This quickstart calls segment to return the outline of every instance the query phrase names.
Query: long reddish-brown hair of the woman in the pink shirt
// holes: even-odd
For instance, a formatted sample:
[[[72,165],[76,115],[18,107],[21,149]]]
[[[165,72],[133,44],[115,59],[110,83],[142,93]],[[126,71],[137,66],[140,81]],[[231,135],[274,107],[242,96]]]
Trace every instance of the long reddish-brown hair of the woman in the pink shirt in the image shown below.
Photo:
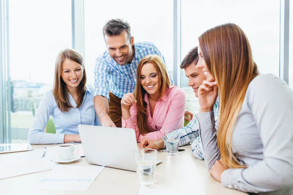
[[[155,66],[158,77],[159,77],[159,92],[160,98],[164,96],[165,90],[169,88],[170,79],[168,76],[168,71],[164,61],[157,55],[149,55],[145,58],[141,59],[137,66],[137,76],[136,76],[136,85],[134,89],[134,98],[137,100],[136,108],[137,108],[137,126],[140,134],[146,135],[149,132],[153,132],[148,126],[148,117],[146,113],[146,102],[144,101],[144,97],[146,95],[146,90],[143,88],[141,84],[141,71],[143,66],[146,63],[151,63]]]

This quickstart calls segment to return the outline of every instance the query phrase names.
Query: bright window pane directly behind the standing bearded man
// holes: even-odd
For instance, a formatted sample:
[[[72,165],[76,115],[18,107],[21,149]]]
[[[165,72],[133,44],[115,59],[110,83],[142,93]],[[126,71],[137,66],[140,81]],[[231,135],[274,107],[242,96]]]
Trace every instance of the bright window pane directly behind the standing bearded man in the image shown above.
[[[129,22],[134,42],[153,42],[173,70],[173,1],[84,1],[84,48],[87,83],[94,83],[95,59],[106,50],[103,26],[107,20]]]

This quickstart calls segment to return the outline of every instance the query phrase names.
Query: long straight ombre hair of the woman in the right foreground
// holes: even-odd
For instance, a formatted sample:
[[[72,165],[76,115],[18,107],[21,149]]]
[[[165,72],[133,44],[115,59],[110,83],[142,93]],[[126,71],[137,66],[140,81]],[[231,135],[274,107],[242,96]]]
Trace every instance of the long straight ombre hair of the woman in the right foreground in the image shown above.
[[[199,45],[219,90],[219,132],[217,143],[226,168],[245,168],[232,153],[232,134],[251,80],[257,76],[249,40],[233,23],[204,32]]]

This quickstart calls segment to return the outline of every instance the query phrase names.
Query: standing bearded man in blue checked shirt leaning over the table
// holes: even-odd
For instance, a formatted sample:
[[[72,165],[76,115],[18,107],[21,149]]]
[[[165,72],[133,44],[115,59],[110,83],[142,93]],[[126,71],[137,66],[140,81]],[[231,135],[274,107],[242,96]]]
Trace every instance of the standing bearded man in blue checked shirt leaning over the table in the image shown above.
[[[103,34],[107,50],[96,59],[94,106],[102,126],[121,127],[121,98],[134,90],[139,61],[147,55],[166,61],[153,43],[134,43],[126,21],[107,21]]]

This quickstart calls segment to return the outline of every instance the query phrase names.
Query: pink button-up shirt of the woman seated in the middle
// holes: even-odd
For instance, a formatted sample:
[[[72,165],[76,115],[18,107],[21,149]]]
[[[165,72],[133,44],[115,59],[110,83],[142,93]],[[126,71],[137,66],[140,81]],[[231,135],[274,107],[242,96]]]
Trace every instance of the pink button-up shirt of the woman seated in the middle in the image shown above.
[[[165,131],[172,131],[183,127],[186,95],[182,89],[176,86],[167,88],[163,97],[157,101],[152,117],[150,116],[147,93],[144,101],[146,102],[148,126],[153,132],[147,133],[145,136],[139,133],[137,127],[137,108],[135,104],[130,107],[130,117],[126,120],[122,118],[122,127],[134,129],[138,142],[143,137],[160,139],[164,137]]]

